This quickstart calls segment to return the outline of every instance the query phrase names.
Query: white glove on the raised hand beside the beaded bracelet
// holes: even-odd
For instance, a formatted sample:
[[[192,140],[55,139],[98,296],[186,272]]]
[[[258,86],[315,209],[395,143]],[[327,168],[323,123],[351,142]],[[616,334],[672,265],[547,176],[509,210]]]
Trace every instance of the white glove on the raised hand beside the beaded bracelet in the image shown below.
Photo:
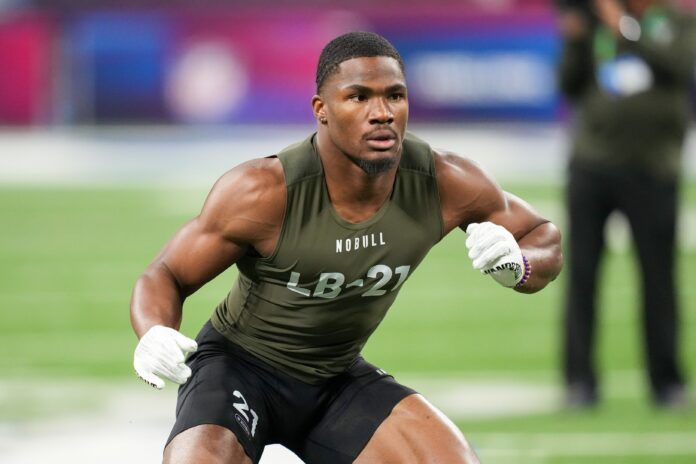
[[[471,223],[466,228],[466,247],[474,269],[488,274],[503,287],[514,287],[528,267],[515,237],[492,222]],[[528,277],[528,274],[527,274]]]

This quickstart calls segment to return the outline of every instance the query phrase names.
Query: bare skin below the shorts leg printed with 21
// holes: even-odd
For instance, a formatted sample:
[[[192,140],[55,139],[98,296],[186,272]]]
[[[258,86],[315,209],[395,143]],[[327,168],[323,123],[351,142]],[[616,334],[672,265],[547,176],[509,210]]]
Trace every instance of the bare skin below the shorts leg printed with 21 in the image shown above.
[[[251,464],[244,448],[229,429],[198,425],[184,430],[164,449],[163,464]]]

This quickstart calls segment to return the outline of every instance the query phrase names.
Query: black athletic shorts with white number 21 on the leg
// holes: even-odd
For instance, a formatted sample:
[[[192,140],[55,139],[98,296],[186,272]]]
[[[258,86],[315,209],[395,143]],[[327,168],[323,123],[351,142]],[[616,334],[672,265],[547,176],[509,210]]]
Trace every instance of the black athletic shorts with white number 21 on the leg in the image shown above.
[[[210,322],[186,362],[193,371],[179,387],[176,423],[167,440],[202,424],[230,429],[253,462],[280,443],[308,464],[349,463],[394,406],[414,390],[362,357],[342,374],[310,385],[232,343]]]

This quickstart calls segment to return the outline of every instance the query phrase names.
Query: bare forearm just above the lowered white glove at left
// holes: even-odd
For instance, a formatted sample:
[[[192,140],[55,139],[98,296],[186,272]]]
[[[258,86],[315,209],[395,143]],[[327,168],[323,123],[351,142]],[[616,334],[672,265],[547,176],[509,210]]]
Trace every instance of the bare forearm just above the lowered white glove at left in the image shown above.
[[[184,293],[163,263],[151,264],[138,278],[131,298],[131,325],[138,338],[152,326],[179,329]]]

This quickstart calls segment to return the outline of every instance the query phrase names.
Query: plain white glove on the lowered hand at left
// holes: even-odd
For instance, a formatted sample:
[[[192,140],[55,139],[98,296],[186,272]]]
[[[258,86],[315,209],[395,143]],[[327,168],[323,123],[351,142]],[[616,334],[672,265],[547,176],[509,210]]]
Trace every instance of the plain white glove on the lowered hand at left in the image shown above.
[[[158,376],[181,385],[191,376],[191,369],[184,364],[186,354],[197,349],[194,340],[170,327],[155,325],[138,342],[133,367],[138,377],[158,390],[164,388],[164,380]]]

